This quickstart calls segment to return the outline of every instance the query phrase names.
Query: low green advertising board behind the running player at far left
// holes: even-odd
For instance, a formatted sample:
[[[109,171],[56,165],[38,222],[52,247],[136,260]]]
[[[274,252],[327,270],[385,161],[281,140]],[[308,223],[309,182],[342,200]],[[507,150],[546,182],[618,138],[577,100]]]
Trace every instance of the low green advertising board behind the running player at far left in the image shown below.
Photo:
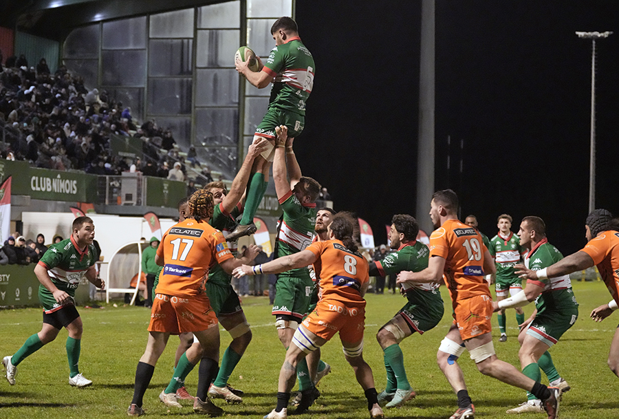
[[[34,275],[35,264],[0,265],[0,307],[28,305],[39,307],[39,279]],[[89,282],[80,281],[75,291],[76,303],[88,301]]]

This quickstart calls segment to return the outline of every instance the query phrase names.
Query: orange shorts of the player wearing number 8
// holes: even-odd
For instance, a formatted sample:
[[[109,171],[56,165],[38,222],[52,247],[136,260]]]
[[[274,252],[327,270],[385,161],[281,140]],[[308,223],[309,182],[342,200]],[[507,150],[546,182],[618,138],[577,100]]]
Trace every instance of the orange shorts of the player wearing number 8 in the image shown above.
[[[302,324],[327,341],[340,332],[340,341],[359,342],[365,330],[365,301],[359,305],[345,305],[334,300],[318,301],[316,309],[305,317]]]

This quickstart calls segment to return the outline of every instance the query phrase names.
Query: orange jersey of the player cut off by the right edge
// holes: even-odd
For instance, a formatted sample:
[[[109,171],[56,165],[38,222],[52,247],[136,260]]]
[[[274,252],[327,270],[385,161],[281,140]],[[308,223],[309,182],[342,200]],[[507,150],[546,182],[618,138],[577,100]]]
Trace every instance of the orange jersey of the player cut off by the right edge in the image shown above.
[[[589,240],[581,252],[591,256],[613,299],[619,303],[619,232],[607,230]]]

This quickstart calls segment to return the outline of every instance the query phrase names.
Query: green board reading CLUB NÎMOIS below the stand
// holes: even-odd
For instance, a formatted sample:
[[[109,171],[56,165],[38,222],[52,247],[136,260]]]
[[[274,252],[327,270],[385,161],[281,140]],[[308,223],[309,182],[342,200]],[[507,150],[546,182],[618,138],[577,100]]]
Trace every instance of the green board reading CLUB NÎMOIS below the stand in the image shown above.
[[[87,173],[37,169],[28,162],[0,160],[0,179],[12,176],[11,193],[35,200],[96,202],[97,177]]]

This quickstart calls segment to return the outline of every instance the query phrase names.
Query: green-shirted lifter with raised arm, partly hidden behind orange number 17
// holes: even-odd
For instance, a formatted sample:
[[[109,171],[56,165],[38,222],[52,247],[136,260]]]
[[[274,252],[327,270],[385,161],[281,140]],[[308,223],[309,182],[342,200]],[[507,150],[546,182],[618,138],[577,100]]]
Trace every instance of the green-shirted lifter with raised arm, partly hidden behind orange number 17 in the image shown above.
[[[234,226],[235,216],[241,213],[241,198],[247,186],[252,163],[265,149],[266,144],[267,140],[265,140],[265,138],[254,138],[246,158],[243,160],[241,169],[239,169],[239,172],[235,176],[235,180],[232,181],[230,192],[226,191],[226,186],[223,182],[210,182],[204,186],[206,191],[213,194],[213,203],[215,205],[213,217],[211,217],[209,224],[221,230],[224,233],[224,237],[228,230]],[[232,255],[236,257],[236,242],[231,242],[228,246]],[[257,253],[257,246],[250,247],[252,248],[252,254],[254,252]],[[253,255],[253,257],[255,257],[255,255]],[[217,373],[217,378],[215,378],[213,385],[208,389],[208,396],[211,398],[224,398],[230,403],[240,403],[243,401],[241,398],[243,392],[228,386],[228,378],[239,361],[241,361],[241,356],[243,356],[243,353],[252,340],[252,332],[245,314],[243,313],[243,309],[241,308],[239,296],[230,285],[230,278],[230,275],[228,275],[221,266],[215,264],[215,266],[211,267],[208,273],[208,281],[204,284],[210,305],[213,307],[213,311],[215,311],[219,323],[221,323],[230,333],[230,336],[232,336],[232,342],[221,358],[221,367]],[[173,378],[170,380],[168,387],[166,387],[160,395],[160,399],[167,406],[181,407],[180,403],[177,402],[177,398],[187,397],[183,396],[184,392],[179,393],[179,390],[184,387],[186,376],[192,371],[201,358],[202,345],[194,341],[193,345],[180,356],[174,370]]]

